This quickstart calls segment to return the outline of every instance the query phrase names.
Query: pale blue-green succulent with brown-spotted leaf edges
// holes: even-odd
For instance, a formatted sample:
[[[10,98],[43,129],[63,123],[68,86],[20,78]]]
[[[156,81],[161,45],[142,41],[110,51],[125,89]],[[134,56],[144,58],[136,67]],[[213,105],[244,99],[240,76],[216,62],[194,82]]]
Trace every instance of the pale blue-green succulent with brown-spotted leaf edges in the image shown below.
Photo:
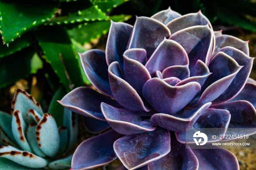
[[[65,108],[59,110],[64,120],[58,128],[53,116],[44,113],[40,104],[21,89],[11,105],[12,115],[0,111],[0,169],[69,168],[72,155],[56,159],[75,143],[77,115]]]

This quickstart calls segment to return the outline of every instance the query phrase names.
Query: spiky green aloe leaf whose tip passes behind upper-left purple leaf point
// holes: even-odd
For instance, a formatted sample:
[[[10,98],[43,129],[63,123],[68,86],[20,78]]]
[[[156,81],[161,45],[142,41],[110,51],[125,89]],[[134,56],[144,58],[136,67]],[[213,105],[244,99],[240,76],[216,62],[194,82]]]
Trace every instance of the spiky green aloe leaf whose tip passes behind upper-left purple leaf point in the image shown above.
[[[131,18],[131,15],[116,15],[110,17],[114,22],[124,22],[129,18]],[[109,31],[109,27],[110,21],[84,23],[77,28],[68,30],[68,34],[77,42],[84,45],[95,38],[99,38],[102,34],[106,34]]]

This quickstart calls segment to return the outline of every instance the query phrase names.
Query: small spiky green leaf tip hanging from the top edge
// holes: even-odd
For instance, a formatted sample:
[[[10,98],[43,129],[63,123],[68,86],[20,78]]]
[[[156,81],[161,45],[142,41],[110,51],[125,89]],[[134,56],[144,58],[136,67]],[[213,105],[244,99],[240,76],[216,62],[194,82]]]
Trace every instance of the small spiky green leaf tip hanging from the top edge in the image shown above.
[[[108,12],[113,8],[127,2],[129,0],[94,0],[94,5],[97,5],[103,12]]]

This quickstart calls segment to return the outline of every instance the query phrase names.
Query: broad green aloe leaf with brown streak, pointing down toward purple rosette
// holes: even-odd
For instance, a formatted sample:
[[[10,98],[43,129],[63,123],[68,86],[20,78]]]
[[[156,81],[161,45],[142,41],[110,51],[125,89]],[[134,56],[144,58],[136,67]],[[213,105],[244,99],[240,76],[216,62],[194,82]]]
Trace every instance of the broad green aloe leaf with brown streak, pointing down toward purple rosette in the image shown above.
[[[83,86],[75,47],[64,28],[45,27],[35,34],[46,61],[50,63],[65,88],[70,91]]]

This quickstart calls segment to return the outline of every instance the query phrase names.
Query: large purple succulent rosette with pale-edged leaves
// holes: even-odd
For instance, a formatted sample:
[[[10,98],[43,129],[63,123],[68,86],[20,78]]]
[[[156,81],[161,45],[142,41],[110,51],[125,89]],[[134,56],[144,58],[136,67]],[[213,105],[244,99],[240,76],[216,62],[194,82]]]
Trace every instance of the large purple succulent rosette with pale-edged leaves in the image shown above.
[[[117,157],[116,170],[239,169],[223,148],[186,149],[185,131],[255,128],[248,42],[213,31],[200,11],[181,16],[169,8],[134,26],[112,22],[106,51],[80,59],[97,90],[76,88],[59,103],[84,115],[89,132],[113,129],[81,143],[72,170]]]

